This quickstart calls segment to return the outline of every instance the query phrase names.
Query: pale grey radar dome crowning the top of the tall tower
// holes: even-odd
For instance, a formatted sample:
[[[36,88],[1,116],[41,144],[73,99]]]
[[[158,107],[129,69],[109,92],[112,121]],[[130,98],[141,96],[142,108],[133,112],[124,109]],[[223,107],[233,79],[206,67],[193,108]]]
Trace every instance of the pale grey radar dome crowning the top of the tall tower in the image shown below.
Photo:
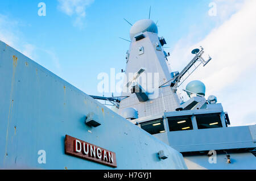
[[[134,23],[130,30],[130,38],[133,39],[135,35],[140,32],[158,33],[158,27],[151,19],[142,19]]]

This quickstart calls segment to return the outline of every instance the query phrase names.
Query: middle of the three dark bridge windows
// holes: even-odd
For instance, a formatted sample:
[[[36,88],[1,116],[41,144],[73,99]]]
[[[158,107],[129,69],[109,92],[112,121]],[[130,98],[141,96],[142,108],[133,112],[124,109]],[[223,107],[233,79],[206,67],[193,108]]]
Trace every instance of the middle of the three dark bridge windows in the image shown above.
[[[185,131],[193,129],[190,116],[168,117],[170,131]]]

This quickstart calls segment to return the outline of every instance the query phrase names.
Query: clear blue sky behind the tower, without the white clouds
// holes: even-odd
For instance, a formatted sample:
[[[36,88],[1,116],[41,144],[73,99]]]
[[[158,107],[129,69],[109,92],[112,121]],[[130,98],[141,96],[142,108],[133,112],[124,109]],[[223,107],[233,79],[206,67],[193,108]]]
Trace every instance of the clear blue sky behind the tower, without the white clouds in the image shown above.
[[[38,16],[39,2],[46,3],[46,16]],[[199,17],[207,15],[208,4],[205,0],[196,4],[192,1],[96,0],[86,7],[82,27],[74,26],[78,15],[65,14],[59,8],[60,2],[52,0],[0,1],[0,14],[16,22],[15,35],[22,42],[34,46],[33,60],[93,94],[98,73],[108,73],[110,68],[125,69],[129,43],[118,37],[129,39],[130,25],[123,18],[131,23],[147,18],[151,6],[151,19],[158,21],[159,35],[166,37],[168,46],[172,47],[195,26],[195,20],[203,21]],[[205,31],[210,30],[210,24],[204,27]],[[19,48],[24,49],[22,45]]]

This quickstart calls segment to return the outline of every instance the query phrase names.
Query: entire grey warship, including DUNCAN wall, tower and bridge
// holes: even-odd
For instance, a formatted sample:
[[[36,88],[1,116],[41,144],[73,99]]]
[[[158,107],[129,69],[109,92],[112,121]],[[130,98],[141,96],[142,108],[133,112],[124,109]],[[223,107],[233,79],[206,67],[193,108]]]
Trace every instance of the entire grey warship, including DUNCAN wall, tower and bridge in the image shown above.
[[[152,20],[135,23],[130,39],[122,94],[110,98],[85,94],[0,41],[0,169],[256,169],[255,125],[229,127],[201,81],[181,90],[188,100],[177,94],[212,60],[203,47],[172,71]]]

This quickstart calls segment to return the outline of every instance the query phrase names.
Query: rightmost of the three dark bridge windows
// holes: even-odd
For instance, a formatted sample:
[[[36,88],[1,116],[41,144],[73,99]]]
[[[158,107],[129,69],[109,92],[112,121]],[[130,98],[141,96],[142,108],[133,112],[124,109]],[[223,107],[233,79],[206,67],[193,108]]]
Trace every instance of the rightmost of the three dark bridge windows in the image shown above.
[[[196,115],[198,129],[221,128],[221,118],[219,113]]]

